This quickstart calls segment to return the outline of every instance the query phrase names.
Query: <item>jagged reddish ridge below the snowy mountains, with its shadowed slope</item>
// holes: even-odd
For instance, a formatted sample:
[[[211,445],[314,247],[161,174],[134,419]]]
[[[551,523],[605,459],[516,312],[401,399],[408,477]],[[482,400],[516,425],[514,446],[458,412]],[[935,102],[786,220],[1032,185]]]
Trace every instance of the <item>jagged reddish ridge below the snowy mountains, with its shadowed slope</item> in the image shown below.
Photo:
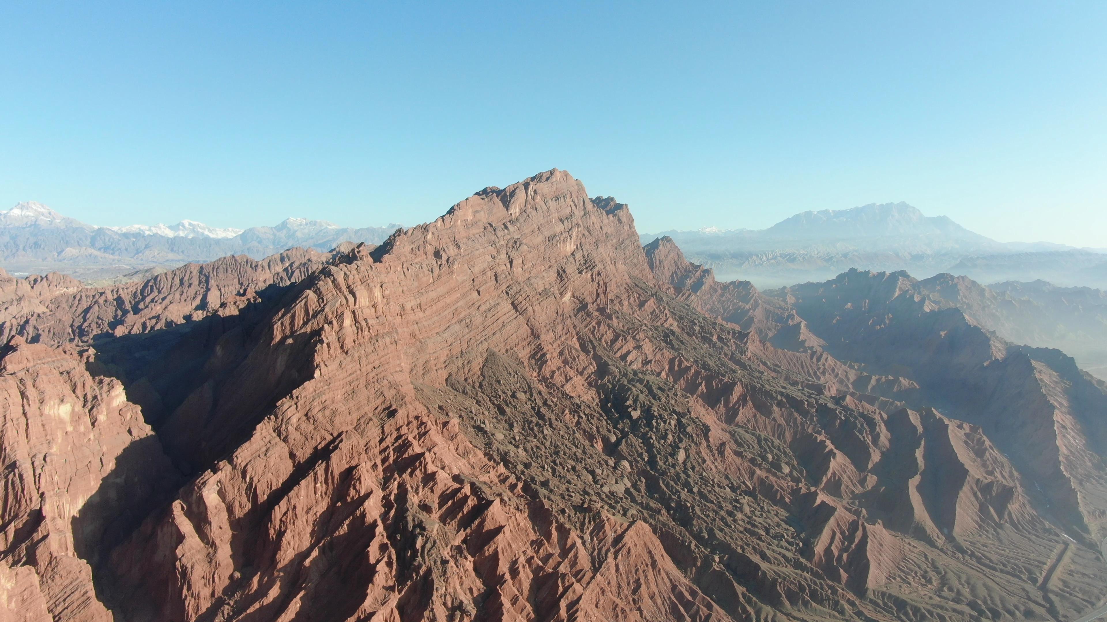
[[[0,334],[94,345],[95,372],[126,382],[130,398],[156,426],[189,391],[183,376],[199,373],[217,342],[220,356],[235,360],[254,322],[333,256],[290,249],[261,261],[226,257],[105,288],[82,288],[60,274],[25,279],[31,287],[13,279]]]

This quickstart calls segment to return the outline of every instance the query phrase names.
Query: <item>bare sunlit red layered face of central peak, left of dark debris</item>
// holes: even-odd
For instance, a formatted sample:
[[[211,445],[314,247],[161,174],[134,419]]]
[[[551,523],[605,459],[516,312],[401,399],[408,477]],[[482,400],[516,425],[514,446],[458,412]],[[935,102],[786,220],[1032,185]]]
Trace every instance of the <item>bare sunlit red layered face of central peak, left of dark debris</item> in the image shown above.
[[[575,526],[466,437],[478,408],[498,414],[457,384],[479,382],[492,345],[558,356],[571,335],[542,326],[562,328],[576,307],[608,297],[600,271],[648,277],[625,210],[606,214],[582,190],[559,172],[486,190],[304,283],[247,363],[165,424],[211,467],[115,551],[131,615],[725,616],[651,530],[602,515]],[[550,263],[538,269],[539,257],[518,252],[526,246]],[[638,251],[639,266],[604,253],[612,247]],[[537,304],[549,297],[555,304]],[[428,410],[416,385],[449,391],[466,425]],[[287,396],[269,412],[244,407],[273,394]],[[540,403],[555,397],[571,400]],[[246,427],[228,425],[236,417],[252,426],[241,444],[226,436]],[[218,446],[236,444],[217,459]],[[151,564],[149,547],[167,537],[196,554]],[[142,610],[162,584],[174,589]]]

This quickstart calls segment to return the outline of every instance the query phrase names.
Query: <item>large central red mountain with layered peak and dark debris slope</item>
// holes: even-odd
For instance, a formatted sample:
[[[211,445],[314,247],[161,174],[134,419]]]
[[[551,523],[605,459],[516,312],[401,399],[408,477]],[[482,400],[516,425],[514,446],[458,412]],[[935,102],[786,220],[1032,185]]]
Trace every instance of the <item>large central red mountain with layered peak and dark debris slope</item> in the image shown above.
[[[634,242],[552,172],[324,267],[159,428],[201,470],[113,554],[127,615],[1047,618],[1063,537],[979,428],[792,382]],[[609,566],[610,521],[679,572],[578,599],[664,566]],[[143,563],[167,533],[187,571]]]

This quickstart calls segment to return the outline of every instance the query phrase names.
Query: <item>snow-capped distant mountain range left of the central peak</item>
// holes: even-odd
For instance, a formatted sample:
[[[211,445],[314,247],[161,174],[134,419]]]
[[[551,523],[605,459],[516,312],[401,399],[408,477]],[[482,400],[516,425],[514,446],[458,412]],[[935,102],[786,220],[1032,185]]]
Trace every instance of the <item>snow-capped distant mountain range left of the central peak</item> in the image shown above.
[[[176,225],[96,227],[34,203],[0,211],[0,262],[8,271],[73,274],[83,280],[127,280],[188,261],[228,255],[255,259],[291,247],[330,250],[342,242],[381,243],[400,225],[340,227],[325,220],[288,218],[273,227],[220,229],[182,220]]]

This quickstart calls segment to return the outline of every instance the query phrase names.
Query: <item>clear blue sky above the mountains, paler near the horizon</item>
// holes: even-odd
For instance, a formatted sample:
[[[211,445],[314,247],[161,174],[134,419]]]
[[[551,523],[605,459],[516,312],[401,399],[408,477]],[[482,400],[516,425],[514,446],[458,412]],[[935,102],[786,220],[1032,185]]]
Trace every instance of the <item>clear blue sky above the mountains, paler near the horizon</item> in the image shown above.
[[[0,3],[0,207],[432,219],[565,168],[640,231],[906,200],[1107,247],[1107,2]]]

